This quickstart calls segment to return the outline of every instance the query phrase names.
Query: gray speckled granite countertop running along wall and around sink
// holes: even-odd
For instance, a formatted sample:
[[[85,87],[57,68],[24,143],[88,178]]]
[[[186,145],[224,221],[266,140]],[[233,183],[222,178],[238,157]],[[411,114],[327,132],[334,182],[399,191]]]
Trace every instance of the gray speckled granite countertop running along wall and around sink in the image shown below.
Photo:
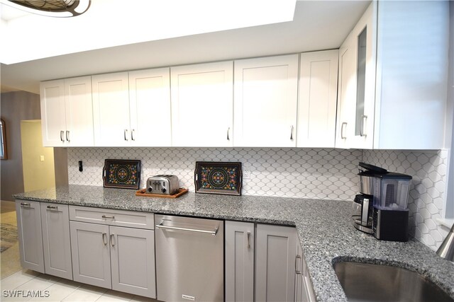
[[[404,267],[423,274],[454,298],[454,263],[417,240],[381,241],[355,230],[351,202],[189,192],[177,199],[136,197],[135,190],[69,185],[14,194],[16,199],[150,211],[296,226],[317,301],[347,301],[333,269],[338,261]]]

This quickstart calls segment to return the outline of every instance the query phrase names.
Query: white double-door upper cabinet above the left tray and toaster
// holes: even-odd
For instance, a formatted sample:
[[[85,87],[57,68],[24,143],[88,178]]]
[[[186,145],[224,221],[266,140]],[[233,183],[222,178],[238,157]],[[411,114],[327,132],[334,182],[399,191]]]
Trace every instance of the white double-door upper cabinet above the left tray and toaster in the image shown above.
[[[93,76],[96,146],[170,146],[169,69]]]

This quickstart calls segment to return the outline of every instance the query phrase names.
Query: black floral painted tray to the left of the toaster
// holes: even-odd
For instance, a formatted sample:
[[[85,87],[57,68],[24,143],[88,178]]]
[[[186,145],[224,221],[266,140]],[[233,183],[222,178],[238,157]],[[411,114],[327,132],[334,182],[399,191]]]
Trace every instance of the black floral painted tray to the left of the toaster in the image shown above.
[[[140,161],[106,159],[102,173],[104,187],[138,190],[140,186]]]

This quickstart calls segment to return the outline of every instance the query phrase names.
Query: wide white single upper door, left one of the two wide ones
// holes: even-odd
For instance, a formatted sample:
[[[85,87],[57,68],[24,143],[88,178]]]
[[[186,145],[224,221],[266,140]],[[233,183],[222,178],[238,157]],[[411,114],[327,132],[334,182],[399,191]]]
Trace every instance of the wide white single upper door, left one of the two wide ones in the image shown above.
[[[233,62],[170,68],[172,146],[233,146]]]

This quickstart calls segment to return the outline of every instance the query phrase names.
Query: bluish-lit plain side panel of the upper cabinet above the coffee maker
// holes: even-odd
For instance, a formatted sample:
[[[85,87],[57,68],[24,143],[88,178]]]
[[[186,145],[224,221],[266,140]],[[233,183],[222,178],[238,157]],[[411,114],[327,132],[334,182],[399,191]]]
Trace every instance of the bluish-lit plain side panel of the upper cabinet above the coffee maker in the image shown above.
[[[445,147],[449,2],[380,1],[374,148]]]

